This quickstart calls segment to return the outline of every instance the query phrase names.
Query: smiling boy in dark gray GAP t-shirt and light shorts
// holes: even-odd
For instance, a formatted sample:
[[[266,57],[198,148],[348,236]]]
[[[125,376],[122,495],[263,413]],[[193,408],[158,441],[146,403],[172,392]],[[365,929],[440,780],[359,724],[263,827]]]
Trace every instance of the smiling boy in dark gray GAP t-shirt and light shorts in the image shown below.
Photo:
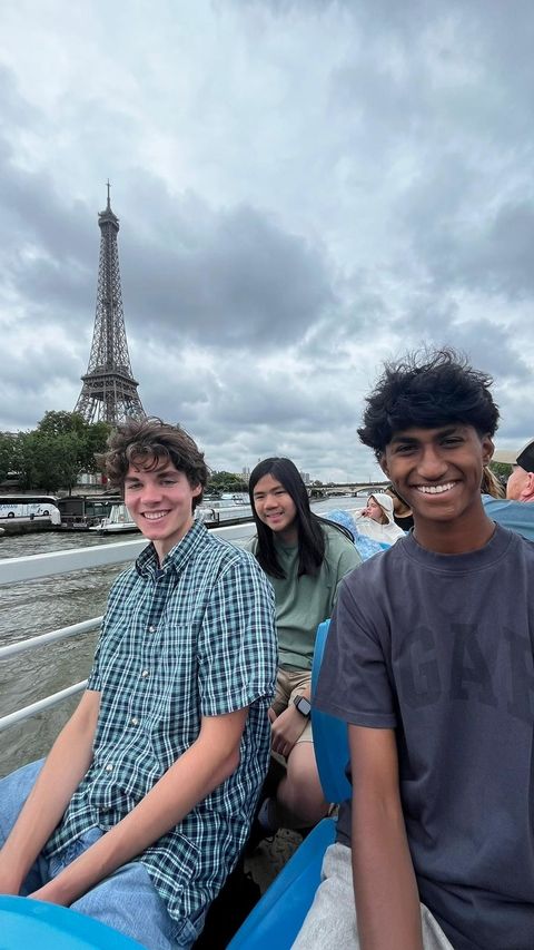
[[[319,914],[330,947],[328,911],[337,948],[534,947],[534,545],[482,505],[490,384],[445,351],[367,400],[360,439],[414,531],[342,586],[316,703],[348,723],[357,923],[337,843],[295,947]]]

